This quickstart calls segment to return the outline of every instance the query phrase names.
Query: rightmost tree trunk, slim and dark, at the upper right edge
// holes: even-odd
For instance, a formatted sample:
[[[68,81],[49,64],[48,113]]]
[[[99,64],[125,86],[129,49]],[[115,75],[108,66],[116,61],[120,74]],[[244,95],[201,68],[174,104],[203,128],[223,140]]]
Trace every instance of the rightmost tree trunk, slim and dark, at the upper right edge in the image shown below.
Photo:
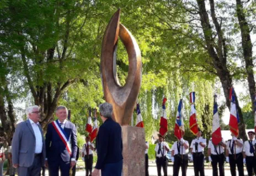
[[[253,74],[253,52],[252,41],[250,40],[250,29],[246,20],[246,15],[243,12],[243,5],[241,0],[236,0],[236,12],[237,18],[241,30],[242,47],[243,47],[243,59],[246,63],[247,81],[249,86],[250,99],[252,101],[252,111],[254,114],[254,98],[255,98],[255,80]]]

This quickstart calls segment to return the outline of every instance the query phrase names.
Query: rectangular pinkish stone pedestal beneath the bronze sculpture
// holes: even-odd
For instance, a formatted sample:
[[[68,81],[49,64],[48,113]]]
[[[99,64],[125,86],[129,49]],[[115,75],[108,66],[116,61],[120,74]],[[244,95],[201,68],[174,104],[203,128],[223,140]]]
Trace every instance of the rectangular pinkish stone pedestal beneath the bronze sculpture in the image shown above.
[[[145,175],[145,130],[122,126],[122,176]]]

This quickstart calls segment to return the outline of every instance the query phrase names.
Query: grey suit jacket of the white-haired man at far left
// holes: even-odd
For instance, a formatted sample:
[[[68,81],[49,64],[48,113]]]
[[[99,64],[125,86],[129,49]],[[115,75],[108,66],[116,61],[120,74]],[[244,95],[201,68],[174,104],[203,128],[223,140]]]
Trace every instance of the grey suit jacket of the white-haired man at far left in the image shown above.
[[[41,166],[45,164],[45,139],[42,127],[39,125],[42,135],[42,157]],[[35,154],[35,134],[29,120],[20,122],[14,132],[12,140],[12,160],[13,164],[20,167],[30,167],[34,161]]]

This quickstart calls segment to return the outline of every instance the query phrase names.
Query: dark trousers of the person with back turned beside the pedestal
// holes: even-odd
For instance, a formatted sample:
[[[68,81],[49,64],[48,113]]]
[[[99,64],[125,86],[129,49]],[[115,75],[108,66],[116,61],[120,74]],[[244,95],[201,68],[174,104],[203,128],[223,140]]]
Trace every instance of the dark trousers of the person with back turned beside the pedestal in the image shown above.
[[[121,176],[122,160],[117,163],[105,164],[102,168],[102,176]]]

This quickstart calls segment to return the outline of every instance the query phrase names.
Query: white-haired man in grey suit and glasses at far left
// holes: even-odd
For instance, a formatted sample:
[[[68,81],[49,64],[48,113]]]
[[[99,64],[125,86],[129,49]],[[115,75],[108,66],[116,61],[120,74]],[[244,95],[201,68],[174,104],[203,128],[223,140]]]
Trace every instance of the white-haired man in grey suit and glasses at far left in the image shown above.
[[[13,167],[19,176],[39,176],[45,164],[45,140],[39,124],[39,106],[26,109],[28,120],[20,122],[12,140]]]

